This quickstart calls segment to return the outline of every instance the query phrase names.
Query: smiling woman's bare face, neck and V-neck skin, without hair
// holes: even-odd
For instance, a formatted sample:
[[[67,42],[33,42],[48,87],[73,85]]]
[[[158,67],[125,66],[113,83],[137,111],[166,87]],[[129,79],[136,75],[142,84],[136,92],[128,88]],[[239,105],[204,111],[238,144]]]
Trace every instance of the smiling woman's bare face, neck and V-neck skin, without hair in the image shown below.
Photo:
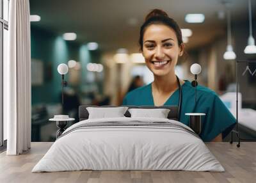
[[[175,65],[179,56],[183,54],[183,50],[184,45],[179,44],[175,31],[167,26],[152,24],[144,33],[143,55],[147,67],[154,73],[152,94],[156,106],[163,105],[170,94],[177,89]],[[180,82],[184,83],[184,81]],[[161,83],[165,83],[164,87]]]

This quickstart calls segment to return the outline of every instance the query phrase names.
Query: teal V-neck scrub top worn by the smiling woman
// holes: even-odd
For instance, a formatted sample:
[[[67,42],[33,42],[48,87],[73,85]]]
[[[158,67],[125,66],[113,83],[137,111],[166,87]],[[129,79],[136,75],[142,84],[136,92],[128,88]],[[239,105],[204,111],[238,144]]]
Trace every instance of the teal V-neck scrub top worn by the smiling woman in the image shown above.
[[[185,113],[205,113],[202,117],[202,132],[200,137],[204,141],[211,141],[222,133],[223,138],[233,129],[236,119],[220,100],[218,95],[204,86],[195,88],[189,81],[182,84],[182,107],[180,111],[180,122],[189,125],[189,116]],[[123,100],[124,106],[154,106],[152,96],[152,83],[132,90],[127,93]],[[179,89],[177,89],[164,106],[179,105]]]

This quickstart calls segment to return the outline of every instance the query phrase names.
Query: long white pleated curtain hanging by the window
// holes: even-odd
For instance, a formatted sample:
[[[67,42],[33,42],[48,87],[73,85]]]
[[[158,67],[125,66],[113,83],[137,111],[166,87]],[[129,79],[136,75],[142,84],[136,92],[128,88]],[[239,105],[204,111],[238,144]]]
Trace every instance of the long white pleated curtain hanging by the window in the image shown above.
[[[31,145],[31,59],[29,0],[10,0],[8,61],[4,63],[4,120],[7,152],[18,155]]]

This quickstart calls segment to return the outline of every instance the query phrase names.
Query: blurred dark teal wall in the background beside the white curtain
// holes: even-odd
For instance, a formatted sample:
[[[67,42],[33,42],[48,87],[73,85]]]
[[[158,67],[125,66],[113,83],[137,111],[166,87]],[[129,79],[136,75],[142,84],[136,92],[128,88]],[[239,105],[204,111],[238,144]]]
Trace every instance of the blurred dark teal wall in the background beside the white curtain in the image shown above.
[[[81,63],[82,78],[79,85],[82,86],[86,83],[86,64],[97,63],[99,58],[99,52],[88,51],[86,45],[65,41],[60,35],[31,25],[31,59],[40,60],[44,65],[44,83],[40,86],[31,86],[32,105],[61,102],[61,76],[57,71],[60,63],[67,64],[68,60]],[[68,74],[65,79],[68,80]]]

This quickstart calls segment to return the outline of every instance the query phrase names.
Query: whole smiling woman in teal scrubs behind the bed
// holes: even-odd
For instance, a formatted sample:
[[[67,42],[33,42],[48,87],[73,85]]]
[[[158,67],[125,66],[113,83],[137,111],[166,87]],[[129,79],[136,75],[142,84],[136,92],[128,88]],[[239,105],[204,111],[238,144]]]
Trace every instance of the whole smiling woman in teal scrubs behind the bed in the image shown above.
[[[189,125],[185,113],[205,113],[200,137],[204,141],[221,141],[236,122],[234,116],[215,92],[204,86],[195,89],[189,81],[175,76],[175,66],[184,53],[182,33],[175,20],[162,10],[148,13],[140,29],[140,50],[145,63],[154,74],[154,81],[129,92],[123,101],[126,106],[177,106],[180,122]],[[182,98],[182,100],[180,100]]]

